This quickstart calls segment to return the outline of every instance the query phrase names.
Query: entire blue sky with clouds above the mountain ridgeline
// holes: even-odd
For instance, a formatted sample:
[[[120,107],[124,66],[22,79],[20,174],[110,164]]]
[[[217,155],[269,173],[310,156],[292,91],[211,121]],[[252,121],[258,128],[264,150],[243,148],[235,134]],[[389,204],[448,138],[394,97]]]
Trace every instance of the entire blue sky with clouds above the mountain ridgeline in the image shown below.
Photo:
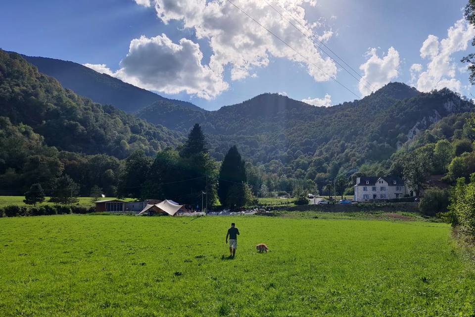
[[[97,66],[101,65],[104,71],[123,80],[206,109],[239,103],[264,92],[287,94],[318,106],[356,99],[328,76],[322,78],[326,76],[319,69],[311,70],[314,64],[334,74],[355,94],[369,93],[345,70],[326,60],[327,55],[318,53],[319,57],[318,49],[309,50],[311,41],[268,5],[263,5],[262,0],[233,2],[276,34],[286,37],[307,60],[295,57],[294,52],[284,52],[282,43],[225,1],[157,0],[158,10],[153,6],[154,0],[146,6],[148,2],[2,1],[0,47],[90,64],[96,70],[101,70]],[[274,1],[268,2],[279,9]],[[306,26],[317,22],[313,28],[316,36],[331,31],[332,36],[322,41],[328,40],[326,45],[375,88],[388,81],[410,83],[420,90],[447,85],[472,98],[468,73],[459,62],[464,54],[474,51],[468,41],[475,35],[474,30],[460,21],[466,2],[282,0],[279,3],[295,15],[304,10],[301,21],[308,23]],[[177,9],[176,3],[181,8]],[[219,10],[223,10],[224,18]],[[429,35],[437,38],[428,38]],[[242,41],[245,49],[233,47],[237,41]],[[175,53],[170,55],[170,52]],[[214,61],[210,64],[211,60]],[[360,65],[364,65],[362,69]]]

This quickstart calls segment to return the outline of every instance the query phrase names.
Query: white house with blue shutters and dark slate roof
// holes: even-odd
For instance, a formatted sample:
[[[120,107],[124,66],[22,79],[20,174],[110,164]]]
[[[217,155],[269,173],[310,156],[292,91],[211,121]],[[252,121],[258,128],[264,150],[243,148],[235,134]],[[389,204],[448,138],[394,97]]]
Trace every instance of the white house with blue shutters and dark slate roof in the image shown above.
[[[406,195],[413,196],[400,177],[370,176],[357,177],[354,200],[367,202],[379,199],[398,199]]]

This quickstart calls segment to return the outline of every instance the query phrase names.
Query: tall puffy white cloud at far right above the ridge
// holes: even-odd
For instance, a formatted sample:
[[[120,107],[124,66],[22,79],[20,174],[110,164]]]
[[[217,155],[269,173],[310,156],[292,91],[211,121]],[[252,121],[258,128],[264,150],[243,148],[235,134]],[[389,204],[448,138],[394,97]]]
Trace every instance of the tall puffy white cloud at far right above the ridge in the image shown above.
[[[421,47],[421,57],[428,60],[425,71],[419,70],[416,88],[429,92],[433,89],[447,87],[460,92],[462,83],[455,78],[457,63],[453,53],[466,51],[470,40],[475,36],[475,29],[465,19],[460,19],[447,30],[447,37],[439,41],[429,35]],[[411,72],[411,75],[413,73]]]

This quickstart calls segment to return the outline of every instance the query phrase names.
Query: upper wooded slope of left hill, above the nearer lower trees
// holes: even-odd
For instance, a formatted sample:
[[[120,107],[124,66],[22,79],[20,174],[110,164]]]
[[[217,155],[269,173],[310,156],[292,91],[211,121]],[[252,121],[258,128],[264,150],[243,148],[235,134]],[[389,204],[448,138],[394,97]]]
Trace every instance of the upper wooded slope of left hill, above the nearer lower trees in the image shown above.
[[[154,155],[176,146],[180,138],[167,128],[63,89],[21,55],[4,51],[0,51],[0,116],[32,127],[48,146],[119,159],[138,149]]]

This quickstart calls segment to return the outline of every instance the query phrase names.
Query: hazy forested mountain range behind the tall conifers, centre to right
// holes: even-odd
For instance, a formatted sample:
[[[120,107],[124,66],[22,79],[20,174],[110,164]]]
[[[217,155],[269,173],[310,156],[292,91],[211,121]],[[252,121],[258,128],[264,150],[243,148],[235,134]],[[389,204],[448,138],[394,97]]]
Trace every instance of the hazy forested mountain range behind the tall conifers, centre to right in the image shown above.
[[[421,130],[452,113],[472,110],[470,101],[444,89],[419,93],[390,83],[362,100],[329,108],[278,94],[197,113],[151,105],[139,116],[175,130],[199,122],[217,159],[233,144],[245,159],[286,177],[315,179],[351,174],[364,163],[389,159]]]

